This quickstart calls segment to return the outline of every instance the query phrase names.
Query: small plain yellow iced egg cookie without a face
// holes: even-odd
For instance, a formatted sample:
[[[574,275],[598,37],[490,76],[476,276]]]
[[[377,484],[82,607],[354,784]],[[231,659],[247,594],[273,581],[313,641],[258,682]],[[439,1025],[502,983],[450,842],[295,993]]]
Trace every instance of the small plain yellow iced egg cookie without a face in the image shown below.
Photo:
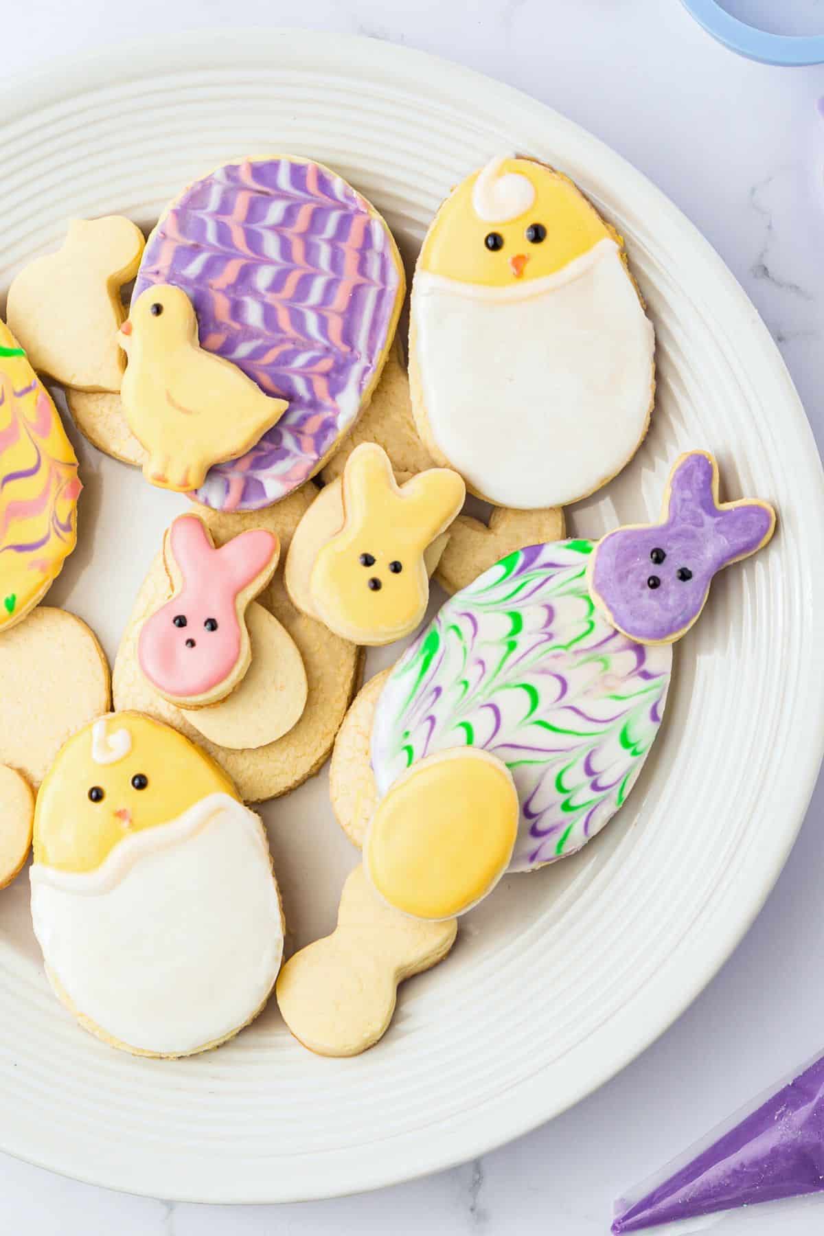
[[[451,918],[482,901],[507,870],[519,816],[515,782],[502,760],[477,747],[439,751],[378,803],[363,866],[395,910]]]

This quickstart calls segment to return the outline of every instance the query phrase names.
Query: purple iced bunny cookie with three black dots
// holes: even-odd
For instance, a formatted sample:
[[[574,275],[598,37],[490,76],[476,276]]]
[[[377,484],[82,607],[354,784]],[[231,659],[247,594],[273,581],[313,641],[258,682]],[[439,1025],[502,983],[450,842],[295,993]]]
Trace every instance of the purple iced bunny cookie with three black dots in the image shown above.
[[[657,524],[616,528],[598,544],[589,591],[607,619],[640,644],[671,644],[698,619],[713,576],[772,536],[766,502],[719,502],[718,464],[688,451],[670,473]]]

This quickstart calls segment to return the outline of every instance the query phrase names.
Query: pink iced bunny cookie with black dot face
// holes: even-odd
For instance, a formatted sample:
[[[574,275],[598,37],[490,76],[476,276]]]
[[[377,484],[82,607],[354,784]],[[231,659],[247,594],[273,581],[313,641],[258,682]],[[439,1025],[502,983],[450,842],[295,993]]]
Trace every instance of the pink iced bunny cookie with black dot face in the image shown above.
[[[174,596],[143,624],[140,667],[169,703],[217,703],[250,667],[246,607],[272,578],[278,538],[257,528],[215,549],[198,515],[180,515],[163,550]]]

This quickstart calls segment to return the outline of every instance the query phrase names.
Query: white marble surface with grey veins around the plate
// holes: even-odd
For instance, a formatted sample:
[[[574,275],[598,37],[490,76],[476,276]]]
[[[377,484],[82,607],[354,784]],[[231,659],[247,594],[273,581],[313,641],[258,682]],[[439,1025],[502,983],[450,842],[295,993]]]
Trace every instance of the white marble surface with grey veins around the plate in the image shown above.
[[[824,30],[822,0],[728,5],[784,32]],[[6,68],[154,30],[289,25],[299,16],[317,28],[435,52],[520,87],[620,151],[709,237],[763,315],[824,444],[824,124],[814,109],[824,67],[738,59],[678,0],[314,0],[299,11],[285,0],[26,0],[2,9]],[[378,1194],[280,1208],[122,1196],[0,1157],[2,1230],[604,1234],[621,1187],[824,1048],[823,826],[819,785],[775,892],[715,981],[624,1073],[529,1137]],[[815,1206],[755,1210],[721,1232],[812,1236],[823,1216]]]

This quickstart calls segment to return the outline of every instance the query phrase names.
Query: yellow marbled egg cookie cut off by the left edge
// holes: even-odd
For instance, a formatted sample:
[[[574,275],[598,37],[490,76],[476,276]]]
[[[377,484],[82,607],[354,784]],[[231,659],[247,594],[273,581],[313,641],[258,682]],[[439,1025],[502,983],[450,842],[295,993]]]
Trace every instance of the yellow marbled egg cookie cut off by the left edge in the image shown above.
[[[0,321],[0,632],[61,574],[77,543],[80,488],[57,409]]]

